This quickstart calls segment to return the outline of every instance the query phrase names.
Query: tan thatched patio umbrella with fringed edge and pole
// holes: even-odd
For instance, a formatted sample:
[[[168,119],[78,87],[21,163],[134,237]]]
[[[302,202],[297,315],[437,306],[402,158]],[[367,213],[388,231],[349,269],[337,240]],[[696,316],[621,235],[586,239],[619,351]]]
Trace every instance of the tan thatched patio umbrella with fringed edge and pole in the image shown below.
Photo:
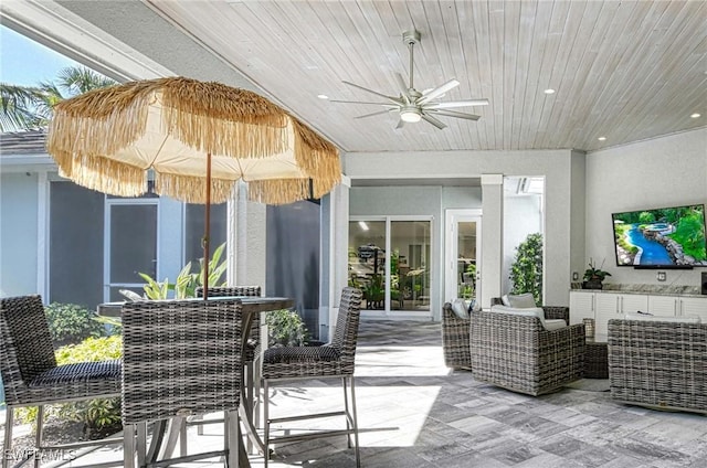
[[[255,93],[184,77],[95,89],[54,108],[48,151],[62,176],[119,196],[147,191],[204,203],[204,299],[210,204],[239,180],[249,199],[283,204],[320,198],[340,180],[337,149]]]

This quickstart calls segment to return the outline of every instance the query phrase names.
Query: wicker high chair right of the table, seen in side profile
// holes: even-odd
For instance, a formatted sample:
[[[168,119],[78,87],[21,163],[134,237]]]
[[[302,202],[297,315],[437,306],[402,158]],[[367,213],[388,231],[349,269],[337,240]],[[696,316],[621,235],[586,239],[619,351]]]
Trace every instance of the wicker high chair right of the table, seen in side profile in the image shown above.
[[[362,292],[352,287],[344,288],[339,304],[336,329],[331,341],[320,347],[281,347],[265,350],[263,355],[263,391],[264,391],[264,437],[263,453],[265,466],[270,458],[270,446],[277,443],[318,439],[320,437],[347,436],[348,447],[356,451],[356,466],[360,467],[358,443],[358,421],[356,416],[356,389],[354,383],[354,361],[358,341],[358,326],[360,318]],[[298,416],[270,416],[270,383],[275,381],[341,379],[344,387],[344,411],[331,413],[314,413]],[[348,385],[348,390],[347,390]],[[350,406],[349,406],[350,393]],[[273,424],[303,421],[317,417],[345,416],[346,429],[312,430],[303,434],[286,434],[272,436]]]

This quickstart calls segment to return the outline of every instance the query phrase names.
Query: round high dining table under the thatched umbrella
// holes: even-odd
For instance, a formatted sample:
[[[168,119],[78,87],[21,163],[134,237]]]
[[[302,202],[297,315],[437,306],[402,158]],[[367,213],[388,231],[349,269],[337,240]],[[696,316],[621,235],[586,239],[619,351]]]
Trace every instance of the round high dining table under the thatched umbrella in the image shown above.
[[[242,307],[243,325],[242,325],[242,354],[245,352],[247,340],[251,338],[251,326],[256,315],[261,315],[261,328],[260,328],[260,354],[255,357],[254,369],[260,369],[262,365],[262,355],[267,348],[267,326],[265,322],[265,315],[268,311],[288,309],[294,306],[294,299],[287,297],[254,297],[254,296],[220,296],[193,298],[193,300],[224,300],[224,299],[240,299]],[[146,299],[147,300],[147,299]],[[99,316],[119,317],[120,310],[125,301],[112,301],[99,304],[96,311]],[[258,373],[260,375],[260,373]],[[257,379],[255,380],[257,382]],[[244,436],[249,438],[252,445],[254,445],[263,456],[267,456],[266,448],[263,440],[257,433],[256,421],[254,417],[254,408],[258,398],[257,392],[253,392],[253,389],[247,389],[245,381],[242,381],[241,385],[241,405],[239,406],[239,415],[243,423]],[[152,426],[152,437],[150,445],[147,449],[146,461],[158,462],[159,460],[168,459],[173,454],[177,442],[181,440],[181,451],[186,455],[186,427],[187,417],[173,416],[171,419],[162,419],[155,422]],[[181,436],[181,437],[180,437]],[[239,464],[241,468],[249,468],[249,450],[246,450],[245,444],[243,444],[243,437],[239,438]]]

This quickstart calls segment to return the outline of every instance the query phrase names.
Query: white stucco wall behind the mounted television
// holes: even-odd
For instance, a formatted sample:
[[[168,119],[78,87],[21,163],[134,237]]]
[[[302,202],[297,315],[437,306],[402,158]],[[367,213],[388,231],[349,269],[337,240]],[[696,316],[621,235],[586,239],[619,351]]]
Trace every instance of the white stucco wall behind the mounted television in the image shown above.
[[[611,283],[698,286],[704,268],[655,270],[616,267],[611,213],[707,203],[707,128],[587,155],[585,257],[604,262]],[[583,272],[583,270],[582,270]]]

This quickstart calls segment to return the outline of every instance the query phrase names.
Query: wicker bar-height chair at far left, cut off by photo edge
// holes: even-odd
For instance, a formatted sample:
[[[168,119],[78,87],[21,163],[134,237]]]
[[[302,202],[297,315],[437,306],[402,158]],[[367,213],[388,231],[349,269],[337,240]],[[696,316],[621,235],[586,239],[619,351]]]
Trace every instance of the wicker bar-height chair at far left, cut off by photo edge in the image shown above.
[[[119,360],[57,365],[39,295],[0,299],[0,372],[7,404],[2,468],[10,464],[14,410],[36,406],[35,466],[42,450],[84,447],[84,443],[43,445],[44,405],[120,395]],[[96,440],[96,445],[120,442]],[[22,460],[21,464],[27,461]]]

